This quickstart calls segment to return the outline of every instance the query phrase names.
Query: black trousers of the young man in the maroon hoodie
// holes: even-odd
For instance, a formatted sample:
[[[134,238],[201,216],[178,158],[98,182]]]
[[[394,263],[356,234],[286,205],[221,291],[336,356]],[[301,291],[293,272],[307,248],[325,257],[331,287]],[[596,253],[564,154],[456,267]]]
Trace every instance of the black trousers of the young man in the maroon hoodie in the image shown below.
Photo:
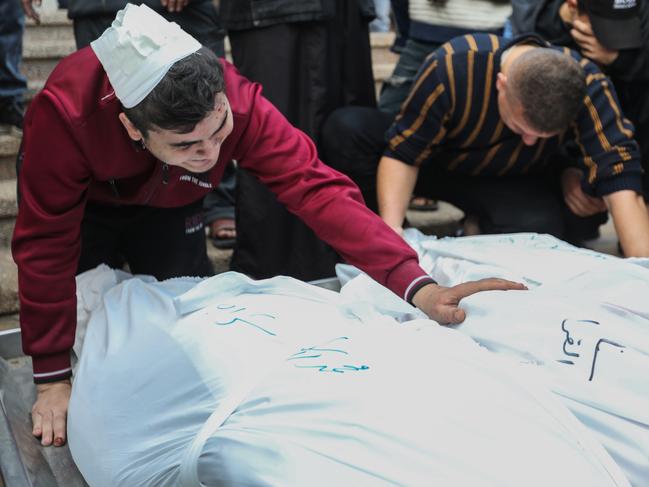
[[[202,200],[178,208],[88,203],[81,223],[77,273],[99,264],[157,279],[211,276]]]

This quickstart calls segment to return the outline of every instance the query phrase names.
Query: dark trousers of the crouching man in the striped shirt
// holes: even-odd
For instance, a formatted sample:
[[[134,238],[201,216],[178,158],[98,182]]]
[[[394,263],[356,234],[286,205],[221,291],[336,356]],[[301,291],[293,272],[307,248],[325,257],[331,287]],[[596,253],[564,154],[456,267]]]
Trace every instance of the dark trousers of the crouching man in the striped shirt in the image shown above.
[[[386,146],[391,115],[364,107],[341,108],[323,129],[329,165],[358,184],[367,205],[377,211],[376,172]],[[555,172],[530,176],[479,177],[422,166],[415,194],[441,199],[478,218],[483,233],[549,233],[572,243],[592,238],[606,213],[580,218],[563,203]]]

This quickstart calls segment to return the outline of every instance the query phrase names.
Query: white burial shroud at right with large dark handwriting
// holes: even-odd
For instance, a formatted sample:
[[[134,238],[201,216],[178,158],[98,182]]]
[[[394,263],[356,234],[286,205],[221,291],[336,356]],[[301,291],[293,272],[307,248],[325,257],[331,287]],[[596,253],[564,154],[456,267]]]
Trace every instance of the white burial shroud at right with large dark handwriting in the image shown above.
[[[620,259],[539,234],[438,240],[411,229],[406,239],[444,286],[502,277],[529,287],[466,298],[466,321],[453,328],[541,372],[631,483],[648,485],[649,259]],[[422,316],[357,269],[339,266],[338,274],[347,299],[401,321]]]

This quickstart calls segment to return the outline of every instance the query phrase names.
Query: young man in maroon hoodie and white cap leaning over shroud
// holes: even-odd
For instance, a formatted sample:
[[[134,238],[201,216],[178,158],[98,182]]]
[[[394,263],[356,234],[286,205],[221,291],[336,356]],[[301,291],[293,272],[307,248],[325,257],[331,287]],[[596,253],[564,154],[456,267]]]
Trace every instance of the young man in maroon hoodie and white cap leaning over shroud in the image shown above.
[[[75,275],[125,262],[158,279],[210,275],[201,201],[233,159],[349,263],[440,323],[464,319],[465,296],[523,288],[436,285],[259,85],[176,24],[128,5],[90,48],[61,61],[25,118],[13,255],[43,445],[65,442]]]

